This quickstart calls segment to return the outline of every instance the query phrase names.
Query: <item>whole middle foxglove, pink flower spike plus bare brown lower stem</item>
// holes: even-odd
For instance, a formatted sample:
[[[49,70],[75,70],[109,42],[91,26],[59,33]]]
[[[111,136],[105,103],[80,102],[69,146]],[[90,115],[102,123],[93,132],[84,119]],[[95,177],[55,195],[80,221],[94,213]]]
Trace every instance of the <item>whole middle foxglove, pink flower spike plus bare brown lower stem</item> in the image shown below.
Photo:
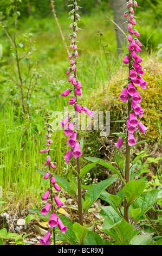
[[[76,73],[76,67],[77,67],[77,57],[79,57],[79,54],[77,52],[77,45],[76,45],[76,38],[77,38],[77,22],[80,21],[80,15],[76,13],[77,10],[79,10],[79,7],[77,5],[76,0],[73,0],[73,4],[68,5],[68,7],[73,7],[72,10],[69,12],[69,18],[72,20],[72,23],[70,23],[69,28],[73,31],[68,35],[68,39],[70,40],[70,49],[73,50],[72,53],[69,54],[69,60],[71,67],[68,68],[68,71],[66,72],[66,75],[69,76],[68,82],[72,82],[73,88],[69,88],[65,90],[61,95],[68,96],[70,93],[74,93],[74,95],[69,100],[69,105],[74,105],[75,110],[75,118],[66,118],[62,122],[60,122],[61,127],[64,128],[64,133],[67,137],[70,137],[68,139],[68,145],[71,147],[67,154],[64,156],[64,159],[66,159],[66,163],[68,164],[72,156],[76,159],[76,169],[77,169],[77,188],[78,188],[78,209],[79,209],[79,223],[83,225],[83,216],[82,216],[82,192],[81,192],[81,180],[79,180],[79,174],[80,174],[80,156],[81,148],[79,143],[79,113],[85,112],[87,115],[90,115],[93,117],[93,111],[90,111],[87,107],[82,106],[82,104],[79,103],[77,96],[81,96],[81,88],[82,84],[79,81],[79,78],[77,77]],[[73,72],[73,73],[72,73]],[[74,127],[74,120],[75,120],[75,127]]]

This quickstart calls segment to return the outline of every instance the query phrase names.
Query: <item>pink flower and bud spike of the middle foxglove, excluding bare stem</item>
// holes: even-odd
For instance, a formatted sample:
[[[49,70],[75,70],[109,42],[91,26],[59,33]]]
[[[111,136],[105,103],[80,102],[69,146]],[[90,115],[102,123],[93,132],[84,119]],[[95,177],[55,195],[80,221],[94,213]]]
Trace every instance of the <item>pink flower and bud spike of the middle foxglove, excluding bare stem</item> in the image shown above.
[[[64,92],[61,93],[61,95],[63,97],[68,96],[70,93],[74,93],[74,95],[70,95],[70,99],[69,99],[69,105],[74,105],[74,109],[75,109],[75,115],[77,115],[78,113],[85,113],[86,115],[89,115],[90,117],[94,117],[93,115],[93,111],[91,111],[90,109],[88,109],[85,106],[82,106],[79,102],[78,102],[78,97],[77,96],[81,96],[82,95],[82,84],[79,80],[79,78],[77,77],[77,73],[76,73],[76,66],[77,66],[77,57],[79,57],[79,53],[77,52],[77,45],[76,45],[76,40],[77,40],[77,32],[79,31],[79,27],[77,26],[77,22],[80,21],[80,15],[76,13],[77,10],[79,10],[79,6],[77,5],[77,2],[75,0],[74,4],[70,5],[70,7],[72,7],[73,9],[70,10],[69,15],[70,15],[70,25],[69,28],[71,29],[70,34],[68,35],[68,39],[70,40],[70,49],[73,50],[73,52],[71,52],[68,56],[68,59],[70,60],[70,65],[71,67],[68,68],[67,72],[66,72],[66,76],[68,77],[68,82],[70,84],[72,84],[72,88],[73,89],[67,89]],[[63,158],[66,160],[66,163],[68,164],[70,159],[72,158],[72,156],[74,156],[75,159],[77,159],[77,157],[80,157],[82,155],[81,153],[81,148],[80,148],[80,144],[79,144],[79,133],[77,131],[75,131],[75,127],[77,127],[77,125],[75,126],[75,115],[72,117],[72,119],[70,119],[69,117],[65,118],[64,120],[62,120],[60,122],[61,127],[64,127],[64,133],[67,137],[70,137],[68,139],[68,145],[70,146],[70,149],[67,151],[66,155],[63,156]],[[77,119],[77,118],[76,118]]]

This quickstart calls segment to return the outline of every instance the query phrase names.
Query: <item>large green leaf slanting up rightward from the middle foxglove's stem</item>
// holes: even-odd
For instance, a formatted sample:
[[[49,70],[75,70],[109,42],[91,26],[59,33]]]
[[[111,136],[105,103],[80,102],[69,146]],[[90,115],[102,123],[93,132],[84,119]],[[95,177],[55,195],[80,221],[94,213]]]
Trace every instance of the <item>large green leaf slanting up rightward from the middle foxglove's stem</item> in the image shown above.
[[[88,205],[88,208],[92,206],[95,201],[100,197],[100,194],[106,190],[108,186],[113,184],[113,182],[118,178],[117,175],[113,175],[111,178],[107,180],[103,180],[99,182],[98,184],[95,184],[93,187],[90,187],[89,190],[86,193],[85,200],[87,200],[90,197],[90,204]]]

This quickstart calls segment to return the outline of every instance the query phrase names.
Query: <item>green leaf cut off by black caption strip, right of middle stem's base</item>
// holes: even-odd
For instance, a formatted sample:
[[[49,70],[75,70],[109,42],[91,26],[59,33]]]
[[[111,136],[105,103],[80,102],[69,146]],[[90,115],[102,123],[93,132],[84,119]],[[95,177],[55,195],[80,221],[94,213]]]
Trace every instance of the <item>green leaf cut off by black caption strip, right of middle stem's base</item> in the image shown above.
[[[98,233],[89,231],[85,239],[85,245],[111,245],[111,243],[103,240]]]

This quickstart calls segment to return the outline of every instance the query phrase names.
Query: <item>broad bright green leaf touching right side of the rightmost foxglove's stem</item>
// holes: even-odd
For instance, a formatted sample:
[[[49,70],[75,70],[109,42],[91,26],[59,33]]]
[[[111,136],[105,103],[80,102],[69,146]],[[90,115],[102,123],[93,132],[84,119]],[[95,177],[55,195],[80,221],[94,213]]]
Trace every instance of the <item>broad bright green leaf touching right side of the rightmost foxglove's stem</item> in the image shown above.
[[[134,202],[135,199],[141,196],[146,187],[146,182],[142,180],[130,180],[123,189],[124,196],[127,200],[127,205]]]

